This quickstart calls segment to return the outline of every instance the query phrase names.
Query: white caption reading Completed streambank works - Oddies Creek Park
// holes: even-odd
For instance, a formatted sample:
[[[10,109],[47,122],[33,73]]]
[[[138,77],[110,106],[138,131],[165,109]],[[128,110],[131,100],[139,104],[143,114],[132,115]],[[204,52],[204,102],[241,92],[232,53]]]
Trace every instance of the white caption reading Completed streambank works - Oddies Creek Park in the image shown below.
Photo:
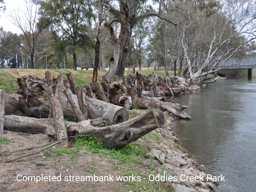
[[[212,179],[213,181],[225,181],[224,180],[225,176],[212,176],[212,175],[206,175],[206,181],[208,181],[208,179]],[[61,174],[59,176],[52,176],[52,175],[43,175],[41,174],[40,176],[22,176],[22,175],[17,175],[16,177],[17,181],[24,181],[24,182],[28,182],[28,181],[36,181],[36,183],[40,182],[40,181],[141,181],[141,176],[135,176],[132,174],[132,176],[111,176],[111,174],[109,174],[109,176],[96,176],[95,174],[93,176],[61,176]],[[180,175],[180,177],[178,178],[177,176],[169,176],[169,175],[149,175],[148,178],[144,178],[143,179],[148,179],[150,181],[204,181],[203,180],[203,176],[199,175],[199,176],[186,176],[186,175]]]

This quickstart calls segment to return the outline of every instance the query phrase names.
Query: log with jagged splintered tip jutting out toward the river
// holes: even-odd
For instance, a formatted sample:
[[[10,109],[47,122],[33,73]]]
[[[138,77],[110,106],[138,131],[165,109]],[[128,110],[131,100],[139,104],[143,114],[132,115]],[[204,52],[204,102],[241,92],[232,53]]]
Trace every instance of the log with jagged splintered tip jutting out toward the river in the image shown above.
[[[190,116],[188,116],[187,113],[183,111],[183,109],[189,108],[188,106],[182,106],[177,103],[164,102],[159,100],[141,99],[138,97],[134,98],[134,101],[137,105],[140,105],[141,109],[148,109],[148,107],[158,108],[183,119],[192,119]]]

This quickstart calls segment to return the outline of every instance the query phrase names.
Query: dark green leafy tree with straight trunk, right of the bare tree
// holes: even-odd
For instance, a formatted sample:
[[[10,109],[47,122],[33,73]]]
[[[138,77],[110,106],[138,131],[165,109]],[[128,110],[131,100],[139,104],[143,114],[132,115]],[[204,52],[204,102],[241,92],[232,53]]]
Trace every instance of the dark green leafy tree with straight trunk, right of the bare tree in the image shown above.
[[[42,18],[53,25],[61,35],[65,47],[73,56],[73,69],[76,70],[76,52],[93,47],[88,28],[94,18],[89,0],[41,0]]]

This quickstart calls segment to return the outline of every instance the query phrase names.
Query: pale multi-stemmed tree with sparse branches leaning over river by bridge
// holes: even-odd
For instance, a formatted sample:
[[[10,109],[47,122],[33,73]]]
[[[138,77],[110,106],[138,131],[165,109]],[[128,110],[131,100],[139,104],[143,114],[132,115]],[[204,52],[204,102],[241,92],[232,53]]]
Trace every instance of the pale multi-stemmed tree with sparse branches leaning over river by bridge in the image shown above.
[[[197,78],[218,72],[236,53],[247,49],[249,43],[256,39],[256,2],[255,0],[222,1],[213,14],[209,17],[201,17],[203,20],[200,22],[198,16],[192,17],[191,13],[187,12],[182,24],[181,44],[191,81],[197,84],[195,82]],[[188,34],[191,34],[194,25],[201,31],[192,34],[189,39]],[[195,45],[202,47],[201,40],[207,45],[206,54],[200,66],[192,70],[189,50]],[[212,80],[214,81],[216,79]]]

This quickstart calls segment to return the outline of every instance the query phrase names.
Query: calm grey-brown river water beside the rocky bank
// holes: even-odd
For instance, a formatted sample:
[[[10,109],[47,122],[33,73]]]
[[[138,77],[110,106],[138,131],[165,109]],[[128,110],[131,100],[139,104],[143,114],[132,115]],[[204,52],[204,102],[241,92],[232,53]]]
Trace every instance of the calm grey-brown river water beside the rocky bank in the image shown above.
[[[181,145],[198,164],[224,175],[224,192],[256,191],[256,78],[228,78],[171,97],[193,120],[177,119]],[[175,128],[174,128],[175,130]]]

